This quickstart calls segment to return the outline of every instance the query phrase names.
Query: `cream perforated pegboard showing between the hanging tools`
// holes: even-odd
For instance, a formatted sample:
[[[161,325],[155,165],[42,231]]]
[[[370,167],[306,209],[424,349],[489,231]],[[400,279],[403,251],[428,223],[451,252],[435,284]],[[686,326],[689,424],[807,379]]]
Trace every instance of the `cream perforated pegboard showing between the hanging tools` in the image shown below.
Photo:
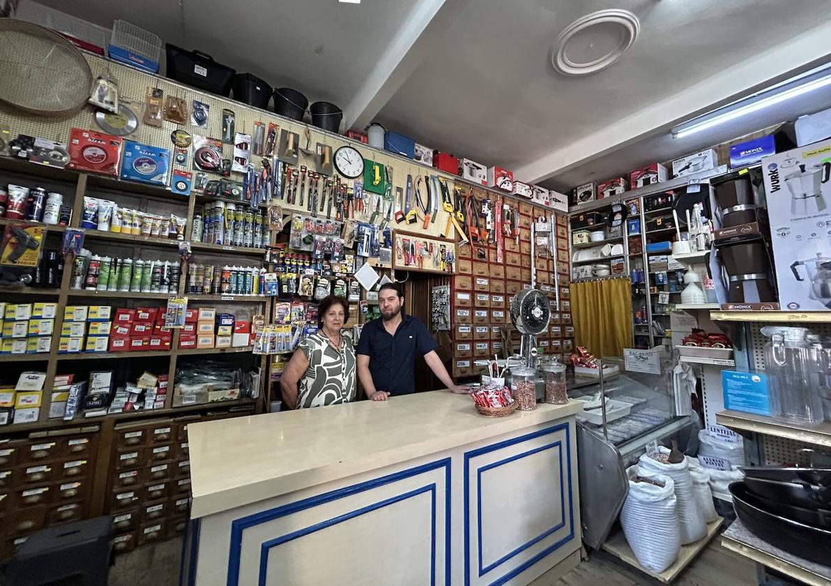
[[[137,142],[144,143],[145,145],[153,145],[170,150],[171,175],[172,170],[174,169],[192,172],[194,173],[194,176],[195,173],[199,171],[197,169],[194,169],[194,157],[192,148],[189,149],[188,160],[184,165],[178,165],[175,163],[172,157],[172,155],[174,154],[175,147],[170,139],[171,133],[174,130],[180,128],[189,132],[190,135],[194,135],[194,140],[195,135],[208,136],[211,138],[219,139],[222,136],[222,111],[225,108],[234,111],[234,130],[236,132],[243,132],[249,135],[253,134],[255,122],[262,122],[266,127],[266,132],[268,132],[268,124],[273,123],[279,127],[279,130],[286,129],[291,132],[297,133],[297,135],[299,135],[300,138],[298,146],[306,146],[306,138],[304,136],[304,133],[307,128],[307,125],[305,123],[288,120],[287,118],[277,116],[273,112],[259,110],[258,108],[246,106],[237,101],[231,101],[220,96],[207,94],[195,88],[184,86],[175,81],[166,79],[165,77],[150,75],[143,71],[135,70],[129,66],[124,66],[116,62],[110,62],[103,57],[87,53],[85,53],[84,56],[86,57],[87,62],[90,64],[93,78],[100,76],[107,70],[107,68],[109,69],[111,75],[114,76],[118,81],[120,89],[120,99],[122,101],[128,102],[132,106],[133,111],[135,111],[135,114],[140,121],[138,128],[131,135],[125,136],[125,140],[135,140]],[[170,121],[163,121],[160,127],[147,126],[143,124],[141,120],[144,114],[145,96],[147,95],[149,88],[160,88],[160,90],[164,92],[164,96],[162,97],[163,104],[167,96],[177,96],[183,98],[188,107],[188,124],[177,125]],[[192,104],[194,100],[201,101],[209,106],[208,120],[206,126],[194,126],[190,124],[190,112],[193,109]],[[96,125],[95,121],[93,120],[94,111],[95,109],[93,106],[85,106],[75,116],[56,119],[45,118],[41,116],[32,116],[27,113],[14,110],[9,106],[0,105],[0,116],[2,116],[2,120],[0,121],[6,123],[10,127],[12,137],[17,136],[18,134],[26,134],[32,136],[40,136],[43,138],[47,138],[49,140],[58,140],[62,143],[66,143],[69,136],[69,132],[73,127],[100,130]],[[311,150],[315,150],[317,144],[320,143],[322,145],[328,145],[332,147],[332,153],[334,153],[334,151],[336,151],[341,146],[348,144],[354,146],[357,150],[361,151],[361,154],[364,156],[366,160],[373,160],[381,165],[389,165],[392,170],[393,201],[395,201],[396,199],[396,188],[401,187],[402,190],[406,189],[407,175],[413,176],[414,183],[416,177],[419,175],[440,175],[441,177],[444,177],[446,180],[448,180],[450,194],[453,194],[455,181],[453,175],[445,174],[440,170],[436,170],[432,167],[421,165],[419,163],[416,163],[415,161],[406,159],[401,156],[392,155],[391,153],[385,150],[377,150],[370,147],[369,145],[363,145],[354,140],[347,140],[345,137],[341,135],[322,131],[314,126],[308,126],[308,128],[311,131],[311,142],[309,144],[309,148]],[[233,144],[223,144],[222,150],[224,158],[233,158]],[[275,155],[276,150],[277,149],[275,149]],[[258,157],[252,155],[251,160],[258,166]],[[298,149],[297,167],[299,167],[300,165],[305,165],[309,170],[315,170],[315,156],[306,155],[302,152],[302,150]],[[335,173],[337,174],[337,172]],[[208,175],[209,179],[219,178],[219,175],[217,174],[209,173]],[[242,180],[242,175],[232,172],[231,178],[234,180]],[[170,175],[168,179],[168,183],[170,183]],[[470,185],[464,182],[460,183],[470,189]],[[493,191],[479,188],[473,189],[474,195],[477,196],[479,199],[488,195],[491,197],[496,195]],[[374,195],[372,195],[372,197],[374,198]],[[513,199],[513,196],[511,197],[511,199]],[[374,209],[375,201],[375,199],[369,199],[367,201],[366,209],[363,214],[366,217],[362,217],[361,215],[359,215],[357,219],[368,220],[372,212],[372,209],[370,208],[372,207]],[[370,203],[372,204],[372,206],[369,205]],[[386,202],[382,203],[386,204]],[[286,212],[305,212],[305,209],[301,209],[299,204],[290,205],[287,204],[284,199],[281,201],[281,204],[283,204],[283,209]],[[552,213],[551,209],[543,208],[540,206],[535,206],[534,209],[538,211],[538,214]],[[392,210],[392,214],[395,214],[395,211],[396,209],[394,208]],[[443,234],[445,233],[445,228],[447,226],[447,219],[447,212],[444,209],[441,209],[441,206],[439,206],[438,217],[435,219],[435,222],[428,224],[427,229],[423,230],[423,234],[425,234],[425,236],[431,236],[434,238],[446,236],[450,239],[456,239],[455,230],[452,227],[450,228],[449,232]],[[395,227],[394,220],[392,221],[391,225]]]

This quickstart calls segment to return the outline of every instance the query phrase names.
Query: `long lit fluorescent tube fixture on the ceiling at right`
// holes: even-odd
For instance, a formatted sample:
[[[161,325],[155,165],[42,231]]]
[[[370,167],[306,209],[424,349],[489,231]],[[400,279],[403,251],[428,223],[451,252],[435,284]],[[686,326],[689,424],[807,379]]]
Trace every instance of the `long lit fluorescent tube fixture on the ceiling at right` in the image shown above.
[[[765,90],[757,91],[727,106],[721,106],[706,114],[696,116],[690,121],[675,126],[671,134],[673,138],[684,138],[827,86],[831,86],[831,66],[822,66]]]

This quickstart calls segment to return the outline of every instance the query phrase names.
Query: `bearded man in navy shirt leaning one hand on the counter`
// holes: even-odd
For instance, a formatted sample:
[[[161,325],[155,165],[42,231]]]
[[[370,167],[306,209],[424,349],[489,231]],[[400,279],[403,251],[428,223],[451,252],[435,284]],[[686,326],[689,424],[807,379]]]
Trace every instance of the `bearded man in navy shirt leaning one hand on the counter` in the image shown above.
[[[404,290],[398,283],[381,285],[378,292],[381,318],[366,323],[357,347],[358,379],[372,401],[386,401],[389,396],[416,392],[413,372],[416,351],[427,366],[450,391],[464,393],[470,389],[456,386],[441,363],[430,332],[418,318],[401,313]]]

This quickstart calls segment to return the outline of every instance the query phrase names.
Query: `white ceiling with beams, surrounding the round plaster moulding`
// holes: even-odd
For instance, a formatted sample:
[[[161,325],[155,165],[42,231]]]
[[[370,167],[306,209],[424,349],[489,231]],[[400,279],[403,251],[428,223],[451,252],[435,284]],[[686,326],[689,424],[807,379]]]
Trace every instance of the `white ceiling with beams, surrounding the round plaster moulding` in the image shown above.
[[[828,0],[40,2],[108,28],[123,18],[310,101],[333,101],[347,127],[378,120],[560,189],[817,110],[828,95],[667,138],[679,121],[828,61]],[[592,76],[553,71],[558,33],[607,8],[640,19],[632,49]]]

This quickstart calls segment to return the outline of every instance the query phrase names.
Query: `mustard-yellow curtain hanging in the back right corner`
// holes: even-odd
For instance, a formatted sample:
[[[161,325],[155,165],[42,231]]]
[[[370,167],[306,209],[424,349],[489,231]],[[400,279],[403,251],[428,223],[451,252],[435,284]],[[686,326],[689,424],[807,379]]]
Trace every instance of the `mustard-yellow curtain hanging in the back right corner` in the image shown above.
[[[572,283],[574,342],[596,357],[622,356],[632,346],[632,291],[628,278]]]

